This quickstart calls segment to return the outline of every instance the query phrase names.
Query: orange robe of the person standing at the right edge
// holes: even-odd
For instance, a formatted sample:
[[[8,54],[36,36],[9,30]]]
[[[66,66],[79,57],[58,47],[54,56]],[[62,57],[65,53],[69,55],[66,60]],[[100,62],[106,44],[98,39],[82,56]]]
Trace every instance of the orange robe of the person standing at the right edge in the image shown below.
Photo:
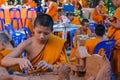
[[[120,20],[120,7],[116,9],[114,18]],[[114,21],[116,23],[116,21]],[[108,38],[116,40],[115,47],[112,53],[112,70],[114,73],[120,73],[120,29],[113,26],[108,29]]]

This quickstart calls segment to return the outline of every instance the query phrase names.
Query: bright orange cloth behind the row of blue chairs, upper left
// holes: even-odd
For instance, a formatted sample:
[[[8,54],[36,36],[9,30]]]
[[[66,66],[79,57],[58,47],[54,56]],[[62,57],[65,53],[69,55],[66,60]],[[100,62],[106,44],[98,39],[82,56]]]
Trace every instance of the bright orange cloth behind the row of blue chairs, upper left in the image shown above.
[[[25,19],[26,19],[27,8],[20,8],[21,14],[19,14],[19,12],[16,12],[16,13],[15,12],[11,12],[11,13],[9,13],[9,8],[10,7],[4,8],[4,10],[5,10],[5,24],[10,24],[11,23],[11,19],[10,18],[12,18],[13,16],[19,17],[21,15],[21,20],[19,21],[19,23],[20,23],[19,26],[20,26],[20,28],[22,28],[22,25],[24,24]],[[35,18],[36,15],[37,14],[36,14],[35,11],[33,11],[33,12],[29,11],[28,12],[28,18],[30,18],[30,19],[31,18]],[[3,16],[1,16],[1,17],[3,17]],[[26,19],[26,27],[28,27],[28,23],[30,23],[30,21],[31,20]],[[13,22],[13,27],[14,27],[14,29],[17,29],[17,22],[16,22],[16,20],[14,20],[14,22]],[[1,25],[0,25],[0,29],[1,29]]]

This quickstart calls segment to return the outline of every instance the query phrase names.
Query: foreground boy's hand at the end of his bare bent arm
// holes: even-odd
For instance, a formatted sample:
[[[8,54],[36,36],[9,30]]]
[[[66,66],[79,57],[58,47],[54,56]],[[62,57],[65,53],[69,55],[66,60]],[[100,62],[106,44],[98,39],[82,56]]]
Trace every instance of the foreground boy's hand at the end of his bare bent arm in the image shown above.
[[[18,60],[18,64],[21,70],[34,70],[32,64],[30,63],[28,59],[20,58]]]

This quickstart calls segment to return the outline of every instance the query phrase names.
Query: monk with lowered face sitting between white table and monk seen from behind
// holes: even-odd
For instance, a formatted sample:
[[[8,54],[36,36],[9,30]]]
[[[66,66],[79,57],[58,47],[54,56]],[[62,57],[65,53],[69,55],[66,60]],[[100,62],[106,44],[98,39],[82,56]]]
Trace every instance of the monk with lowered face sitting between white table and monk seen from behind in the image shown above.
[[[80,34],[91,35],[92,34],[88,26],[89,26],[89,21],[87,19],[83,19],[81,22],[81,27],[76,30],[74,34],[73,47],[70,53],[70,60],[72,60],[72,58],[74,59],[74,53],[77,49],[77,35],[80,35]]]

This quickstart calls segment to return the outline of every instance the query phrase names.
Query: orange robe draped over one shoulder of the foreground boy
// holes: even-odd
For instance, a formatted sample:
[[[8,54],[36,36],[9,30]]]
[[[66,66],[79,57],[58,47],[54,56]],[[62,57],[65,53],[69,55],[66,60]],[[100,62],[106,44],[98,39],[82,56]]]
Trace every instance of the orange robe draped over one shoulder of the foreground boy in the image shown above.
[[[62,62],[68,63],[64,43],[65,41],[63,39],[51,35],[43,51],[31,61],[32,65],[36,66],[41,60],[52,65],[58,65]],[[37,69],[35,72],[40,70],[41,69]]]

